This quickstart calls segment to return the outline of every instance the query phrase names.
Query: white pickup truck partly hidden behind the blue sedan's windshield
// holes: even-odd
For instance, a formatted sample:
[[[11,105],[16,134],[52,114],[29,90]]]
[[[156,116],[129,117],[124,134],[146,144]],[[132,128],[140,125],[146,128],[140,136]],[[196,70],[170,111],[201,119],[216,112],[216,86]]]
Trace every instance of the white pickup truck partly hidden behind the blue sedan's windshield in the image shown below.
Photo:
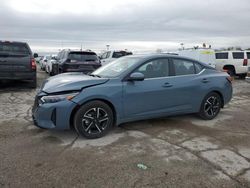
[[[133,55],[132,52],[128,52],[128,51],[124,51],[124,50],[120,50],[120,51],[107,51],[104,52],[101,56],[101,63],[102,65],[106,65],[114,60],[116,60],[117,58],[123,57],[123,56],[127,56],[127,55]]]

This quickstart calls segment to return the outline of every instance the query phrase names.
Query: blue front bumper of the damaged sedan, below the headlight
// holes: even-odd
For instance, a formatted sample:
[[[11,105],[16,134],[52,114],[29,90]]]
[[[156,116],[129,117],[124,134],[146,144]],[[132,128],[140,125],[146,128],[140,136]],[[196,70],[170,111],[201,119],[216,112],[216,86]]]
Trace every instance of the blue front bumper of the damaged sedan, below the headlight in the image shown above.
[[[70,129],[70,116],[76,103],[68,100],[36,105],[32,118],[37,127],[45,129]]]

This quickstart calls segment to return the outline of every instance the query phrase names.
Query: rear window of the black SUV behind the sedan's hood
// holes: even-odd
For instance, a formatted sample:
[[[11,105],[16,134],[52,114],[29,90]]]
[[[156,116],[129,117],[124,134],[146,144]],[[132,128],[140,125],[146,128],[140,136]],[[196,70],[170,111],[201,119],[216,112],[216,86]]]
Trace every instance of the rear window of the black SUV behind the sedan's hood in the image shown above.
[[[98,57],[95,53],[90,52],[70,52],[68,59],[76,61],[97,61]]]

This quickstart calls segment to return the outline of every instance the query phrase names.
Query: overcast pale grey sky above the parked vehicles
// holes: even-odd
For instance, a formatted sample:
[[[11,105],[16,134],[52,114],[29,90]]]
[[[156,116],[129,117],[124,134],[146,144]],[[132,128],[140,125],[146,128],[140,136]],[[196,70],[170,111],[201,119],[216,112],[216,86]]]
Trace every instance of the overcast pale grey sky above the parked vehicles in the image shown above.
[[[0,0],[0,40],[62,48],[250,47],[249,0]]]

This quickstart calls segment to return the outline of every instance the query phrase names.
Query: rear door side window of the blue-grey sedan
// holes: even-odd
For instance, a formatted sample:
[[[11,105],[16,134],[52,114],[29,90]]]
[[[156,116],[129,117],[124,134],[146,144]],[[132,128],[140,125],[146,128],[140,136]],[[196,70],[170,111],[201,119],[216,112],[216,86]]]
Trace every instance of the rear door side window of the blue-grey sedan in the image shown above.
[[[195,74],[194,63],[184,59],[173,59],[175,75]]]

